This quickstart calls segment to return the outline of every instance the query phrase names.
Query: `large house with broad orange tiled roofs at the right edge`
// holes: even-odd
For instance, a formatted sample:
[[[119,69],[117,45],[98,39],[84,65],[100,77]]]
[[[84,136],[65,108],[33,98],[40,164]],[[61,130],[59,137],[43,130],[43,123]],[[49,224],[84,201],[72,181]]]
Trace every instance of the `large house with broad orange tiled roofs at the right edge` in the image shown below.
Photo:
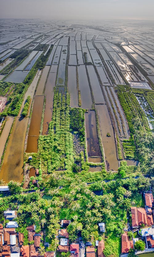
[[[152,226],[153,217],[147,214],[144,208],[131,207],[132,213],[132,228],[138,228],[141,224]]]

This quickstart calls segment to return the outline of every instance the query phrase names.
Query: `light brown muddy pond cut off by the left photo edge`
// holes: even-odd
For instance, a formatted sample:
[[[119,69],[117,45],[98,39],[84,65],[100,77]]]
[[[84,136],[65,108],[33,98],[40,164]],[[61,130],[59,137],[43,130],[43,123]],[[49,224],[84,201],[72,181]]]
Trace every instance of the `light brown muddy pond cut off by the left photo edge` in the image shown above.
[[[12,123],[14,121],[14,118],[9,117],[5,123],[5,126],[3,128],[2,134],[0,136],[0,162],[1,162],[1,157],[5,148],[6,140],[8,138]]]

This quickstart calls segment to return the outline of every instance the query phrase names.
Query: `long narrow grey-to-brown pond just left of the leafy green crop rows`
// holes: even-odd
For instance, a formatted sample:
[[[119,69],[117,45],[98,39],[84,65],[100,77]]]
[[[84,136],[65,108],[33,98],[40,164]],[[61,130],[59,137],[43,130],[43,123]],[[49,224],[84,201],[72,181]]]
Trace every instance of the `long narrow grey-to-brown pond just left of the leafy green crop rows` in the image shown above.
[[[52,108],[53,108],[53,98],[54,98],[53,88],[55,86],[57,67],[58,67],[57,65],[51,66],[51,70],[47,79],[46,89],[44,93],[46,95],[46,106],[45,106],[45,112],[44,112],[42,135],[48,134],[48,126],[52,118]]]

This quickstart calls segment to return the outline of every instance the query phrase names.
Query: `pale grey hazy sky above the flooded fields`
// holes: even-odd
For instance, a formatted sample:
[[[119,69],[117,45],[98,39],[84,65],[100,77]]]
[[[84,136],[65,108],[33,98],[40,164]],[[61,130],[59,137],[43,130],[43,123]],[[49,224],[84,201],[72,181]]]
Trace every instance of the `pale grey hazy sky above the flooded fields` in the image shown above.
[[[154,0],[0,0],[0,18],[154,20]]]

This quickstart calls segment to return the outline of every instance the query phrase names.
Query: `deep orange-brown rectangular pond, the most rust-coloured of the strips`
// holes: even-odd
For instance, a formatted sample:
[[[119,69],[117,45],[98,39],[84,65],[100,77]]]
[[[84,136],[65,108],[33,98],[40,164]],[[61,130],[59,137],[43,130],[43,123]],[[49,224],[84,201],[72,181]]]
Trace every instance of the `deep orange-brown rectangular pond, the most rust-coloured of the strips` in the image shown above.
[[[27,139],[27,153],[37,153],[37,140],[40,134],[44,95],[35,96],[33,112],[30,121],[30,129]]]

